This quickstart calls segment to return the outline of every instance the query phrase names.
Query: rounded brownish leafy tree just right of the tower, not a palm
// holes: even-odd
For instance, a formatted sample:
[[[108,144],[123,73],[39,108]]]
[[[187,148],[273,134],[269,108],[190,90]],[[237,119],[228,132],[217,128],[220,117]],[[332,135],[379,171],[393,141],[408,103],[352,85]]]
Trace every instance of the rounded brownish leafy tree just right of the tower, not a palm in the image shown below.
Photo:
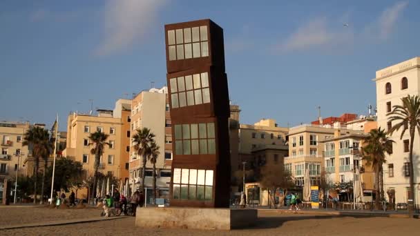
[[[283,165],[267,165],[261,168],[260,185],[262,188],[267,188],[269,193],[270,208],[271,206],[276,207],[275,195],[276,191],[283,190],[283,197],[279,199],[278,204],[280,205],[287,195],[287,189],[294,186],[291,173],[285,171]]]

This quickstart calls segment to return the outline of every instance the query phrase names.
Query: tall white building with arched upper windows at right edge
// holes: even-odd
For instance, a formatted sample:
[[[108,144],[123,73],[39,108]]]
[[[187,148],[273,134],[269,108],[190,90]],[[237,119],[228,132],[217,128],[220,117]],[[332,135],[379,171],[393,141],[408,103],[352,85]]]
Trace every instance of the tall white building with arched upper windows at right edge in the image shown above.
[[[392,106],[402,105],[401,98],[408,95],[420,95],[420,57],[414,57],[407,61],[397,63],[393,66],[376,71],[373,79],[376,83],[376,105],[378,108],[378,126],[388,130],[392,125],[388,121],[388,112],[392,111]],[[414,196],[420,204],[420,137],[415,133],[413,146],[413,166],[414,173],[410,173],[409,150],[410,134],[405,132],[400,139],[401,130],[394,132],[391,139],[395,141],[392,147],[392,154],[386,155],[384,170],[384,190],[386,193],[395,195],[396,203],[406,203],[410,193],[410,175],[414,175]],[[388,195],[385,195],[388,197]]]

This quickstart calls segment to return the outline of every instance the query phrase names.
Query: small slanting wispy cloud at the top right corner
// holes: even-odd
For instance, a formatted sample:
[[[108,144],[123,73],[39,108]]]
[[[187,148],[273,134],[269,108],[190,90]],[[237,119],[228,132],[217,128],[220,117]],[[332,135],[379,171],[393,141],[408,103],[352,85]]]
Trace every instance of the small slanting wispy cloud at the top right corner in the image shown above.
[[[394,6],[386,8],[382,12],[381,17],[379,17],[378,20],[379,35],[381,39],[388,39],[388,37],[390,37],[401,12],[403,12],[407,5],[407,1],[399,1]]]

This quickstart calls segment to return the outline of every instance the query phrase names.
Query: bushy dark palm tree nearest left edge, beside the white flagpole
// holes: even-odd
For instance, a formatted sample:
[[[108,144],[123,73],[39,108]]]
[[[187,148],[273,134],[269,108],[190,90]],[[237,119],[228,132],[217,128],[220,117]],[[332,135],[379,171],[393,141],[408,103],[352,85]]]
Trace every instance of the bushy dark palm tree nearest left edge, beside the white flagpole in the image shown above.
[[[39,126],[32,126],[26,131],[23,137],[23,146],[28,146],[28,149],[32,149],[32,158],[35,163],[34,175],[34,204],[37,203],[37,183],[38,183],[38,170],[39,170],[39,159],[44,157],[46,154],[45,139],[48,141],[48,131],[44,130]],[[45,173],[45,170],[44,170]],[[45,180],[45,179],[44,179]],[[44,181],[43,181],[44,182]]]

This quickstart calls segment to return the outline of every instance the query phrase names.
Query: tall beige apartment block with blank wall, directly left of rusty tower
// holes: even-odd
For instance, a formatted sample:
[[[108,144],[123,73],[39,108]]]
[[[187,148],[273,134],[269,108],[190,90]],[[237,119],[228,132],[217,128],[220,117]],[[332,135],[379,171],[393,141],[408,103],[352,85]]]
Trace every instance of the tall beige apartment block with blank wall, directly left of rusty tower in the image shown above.
[[[131,137],[135,135],[137,129],[149,128],[155,135],[155,141],[160,146],[160,155],[156,162],[156,186],[158,196],[169,198],[169,182],[171,181],[172,164],[172,133],[171,115],[169,113],[168,88],[144,90],[133,97],[131,109]],[[130,150],[130,186],[132,190],[140,188],[142,177],[142,157],[135,153],[133,143]],[[128,150],[128,148],[127,148]],[[144,170],[144,185],[146,198],[151,203],[153,171],[150,161]]]

